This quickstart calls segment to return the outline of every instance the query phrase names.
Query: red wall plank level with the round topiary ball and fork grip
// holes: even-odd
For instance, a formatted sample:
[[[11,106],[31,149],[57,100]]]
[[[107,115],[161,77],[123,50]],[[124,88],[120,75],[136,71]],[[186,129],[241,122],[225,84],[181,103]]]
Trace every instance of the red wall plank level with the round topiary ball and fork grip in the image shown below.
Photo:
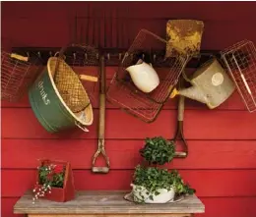
[[[96,144],[96,139],[3,139],[2,168],[36,168],[37,159],[45,157],[66,159],[73,169],[90,169]],[[133,169],[142,162],[138,151],[143,144],[144,140],[106,140],[111,169]],[[168,168],[256,168],[255,140],[188,140],[188,145],[188,157],[174,159]],[[103,163],[100,157],[97,163]]]

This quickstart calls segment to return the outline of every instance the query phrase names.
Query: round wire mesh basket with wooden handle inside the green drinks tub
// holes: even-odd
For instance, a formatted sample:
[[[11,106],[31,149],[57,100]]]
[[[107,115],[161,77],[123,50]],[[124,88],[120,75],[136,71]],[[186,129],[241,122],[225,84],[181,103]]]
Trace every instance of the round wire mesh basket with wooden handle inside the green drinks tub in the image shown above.
[[[72,44],[59,52],[54,81],[61,97],[74,113],[92,104],[98,77],[98,72],[93,70],[95,65],[98,65],[98,52],[94,47]],[[78,71],[86,75],[79,75]],[[82,83],[82,80],[85,82]]]

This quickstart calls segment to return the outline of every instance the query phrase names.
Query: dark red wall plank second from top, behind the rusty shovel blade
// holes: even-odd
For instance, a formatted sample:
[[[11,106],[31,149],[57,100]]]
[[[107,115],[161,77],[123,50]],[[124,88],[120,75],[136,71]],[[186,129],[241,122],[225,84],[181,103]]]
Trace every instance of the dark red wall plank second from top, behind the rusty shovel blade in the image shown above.
[[[72,24],[70,24],[68,19],[68,17],[64,19],[55,18],[54,20],[40,18],[34,19],[33,22],[31,22],[29,18],[20,19],[18,21],[4,20],[2,27],[7,30],[3,31],[3,37],[12,39],[17,46],[64,46],[72,39]],[[85,23],[86,22],[88,21],[85,20]],[[139,20],[133,24],[129,36],[130,39],[133,40],[141,28],[147,28],[159,34],[161,37],[165,37],[165,26],[166,20]],[[253,27],[254,23],[250,22],[206,22],[201,48],[207,50],[222,50],[244,38],[256,42],[256,32]],[[237,31],[237,29],[239,29],[239,31]],[[20,32],[28,33],[21,34]],[[50,40],[45,40],[45,32],[50,34]],[[117,32],[118,31],[115,30],[114,35],[116,35]],[[19,38],[14,37],[14,35],[17,34],[20,34]],[[84,35],[84,37],[85,36],[86,35]],[[107,38],[107,40],[109,39],[111,38]]]

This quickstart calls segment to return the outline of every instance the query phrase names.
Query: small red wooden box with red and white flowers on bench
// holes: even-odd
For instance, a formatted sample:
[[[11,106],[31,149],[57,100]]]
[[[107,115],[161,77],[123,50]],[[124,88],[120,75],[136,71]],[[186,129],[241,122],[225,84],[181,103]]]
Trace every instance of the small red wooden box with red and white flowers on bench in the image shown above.
[[[74,179],[69,162],[40,160],[37,182],[33,191],[33,203],[39,197],[64,202],[74,198]]]

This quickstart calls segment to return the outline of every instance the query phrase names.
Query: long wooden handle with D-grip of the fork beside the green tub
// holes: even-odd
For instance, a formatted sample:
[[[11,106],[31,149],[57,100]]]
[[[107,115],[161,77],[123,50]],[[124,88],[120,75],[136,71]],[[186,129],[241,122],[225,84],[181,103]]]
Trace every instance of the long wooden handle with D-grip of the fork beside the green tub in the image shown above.
[[[105,72],[104,72],[104,56],[100,57],[100,92],[99,92],[99,125],[98,125],[98,141],[97,150],[93,158],[92,171],[94,173],[108,173],[110,163],[106,156],[104,148],[104,130],[105,130]],[[102,154],[106,163],[105,167],[96,167],[96,158]]]

